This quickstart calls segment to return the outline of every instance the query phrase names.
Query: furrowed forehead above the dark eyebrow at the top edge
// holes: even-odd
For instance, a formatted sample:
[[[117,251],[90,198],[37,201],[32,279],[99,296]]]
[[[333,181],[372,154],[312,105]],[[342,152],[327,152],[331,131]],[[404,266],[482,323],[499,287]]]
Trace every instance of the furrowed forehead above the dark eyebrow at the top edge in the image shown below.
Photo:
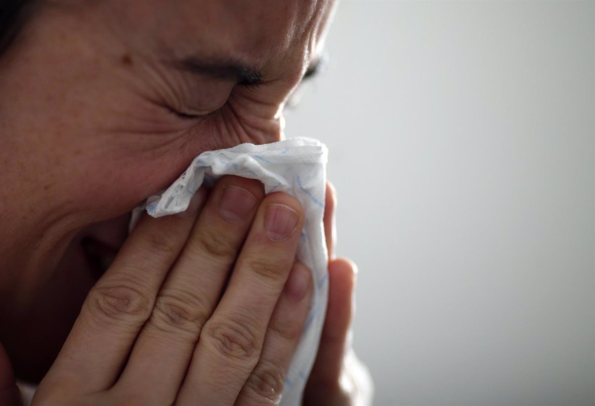
[[[314,53],[332,0],[112,0],[135,42],[183,57],[232,54],[262,63],[301,49]],[[304,49],[307,48],[307,49]]]

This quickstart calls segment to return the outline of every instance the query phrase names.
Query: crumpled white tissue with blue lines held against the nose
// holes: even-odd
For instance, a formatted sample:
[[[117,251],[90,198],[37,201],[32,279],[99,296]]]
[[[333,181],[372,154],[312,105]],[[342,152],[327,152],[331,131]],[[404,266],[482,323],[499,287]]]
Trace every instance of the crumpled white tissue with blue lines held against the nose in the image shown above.
[[[133,211],[130,229],[145,210],[153,217],[186,210],[190,199],[201,187],[212,186],[230,174],[258,179],[265,193],[285,192],[302,205],[305,223],[297,246],[296,259],[312,270],[314,294],[306,325],[293,355],[285,380],[281,405],[297,406],[314,363],[322,331],[328,296],[328,254],[324,237],[324,196],[327,148],[310,138],[280,142],[249,143],[198,155],[183,174],[160,195],[147,199]]]

